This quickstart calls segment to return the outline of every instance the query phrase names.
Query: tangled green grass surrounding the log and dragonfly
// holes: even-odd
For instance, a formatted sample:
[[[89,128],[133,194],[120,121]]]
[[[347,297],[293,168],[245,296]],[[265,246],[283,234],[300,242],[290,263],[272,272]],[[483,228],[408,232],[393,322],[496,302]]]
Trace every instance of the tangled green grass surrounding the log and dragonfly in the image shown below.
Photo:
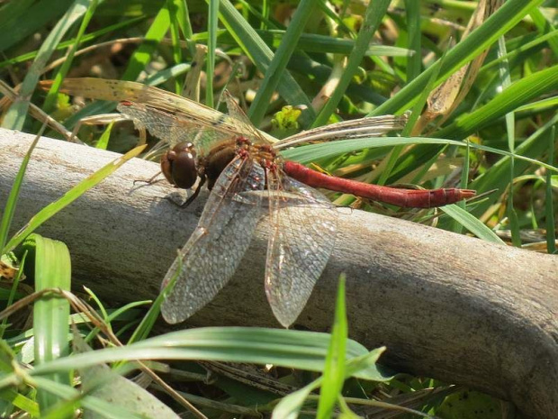
[[[29,114],[30,103],[48,113],[54,110],[69,130],[81,117],[111,112],[114,104],[103,102],[87,102],[76,114],[71,114],[72,108],[55,109],[63,103],[59,85],[66,77],[78,76],[141,80],[178,94],[200,87],[202,101],[210,106],[217,104],[221,87],[227,85],[237,95],[246,94],[242,99],[248,102],[247,114],[262,129],[269,128],[283,105],[303,106],[296,123],[304,129],[363,115],[412,111],[401,136],[311,144],[284,150],[283,155],[367,182],[495,190],[479,202],[449,205],[436,215],[432,210],[409,213],[368,205],[354,196],[330,197],[415,222],[437,216],[439,228],[473,232],[486,241],[501,242],[500,236],[511,232],[514,246],[526,244],[521,232],[543,229],[540,249],[555,254],[556,2],[508,0],[466,37],[464,26],[476,2],[405,0],[395,7],[396,2],[386,0],[360,6],[353,2],[353,9],[346,2],[331,3],[337,7],[323,0],[7,2],[0,5],[0,77],[11,86],[21,83],[22,99],[6,105],[2,126],[39,132]],[[434,11],[434,6],[439,9]],[[132,37],[143,41],[118,41]],[[196,44],[209,47],[204,62],[193,63]],[[428,101],[434,89],[480,59],[483,50],[488,54],[470,90],[444,114],[446,121],[420,125],[424,120],[419,117],[443,101],[444,96],[434,104]],[[242,69],[239,74],[236,68]],[[200,69],[202,77],[196,73]],[[55,80],[49,93],[37,91],[41,78]],[[108,150],[130,150],[116,131],[85,128],[79,136]],[[131,150],[125,159],[137,153]],[[500,409],[490,397],[464,397],[467,390],[430,378],[392,378],[376,363],[383,349],[370,351],[347,340],[350,319],[344,312],[343,281],[331,335],[223,327],[150,337],[162,297],[146,311],[143,305],[148,302],[143,301],[112,307],[93,289],[87,292],[94,306],[85,304],[67,292],[72,272],[66,245],[34,232],[117,166],[111,164],[64,191],[10,236],[29,159],[32,148],[5,199],[0,224],[3,253],[14,251],[24,260],[25,272],[35,284],[34,293],[22,292],[16,281],[1,294],[9,307],[0,341],[0,416],[27,412],[34,417],[72,417],[75,409],[85,408],[104,417],[139,417],[147,410],[137,405],[144,405],[157,410],[158,416],[173,417],[141,387],[99,367],[107,362],[117,372],[128,373],[126,377],[130,369],[141,369],[155,379],[153,393],[175,412],[188,409],[191,401],[209,417],[269,414],[274,409],[275,417],[329,417],[333,409],[352,417],[355,405],[385,407],[385,400],[371,395],[388,393],[394,395],[392,403],[400,405],[419,395],[413,406],[421,414],[456,417],[479,406]],[[34,320],[26,323],[31,306]],[[89,351],[85,342],[95,350]],[[165,370],[158,360],[174,360],[175,370],[166,381],[183,391],[160,396],[164,382],[152,375]],[[281,393],[282,398],[268,387],[220,376],[211,386],[203,385],[209,391],[199,391],[197,385],[180,381],[185,375],[195,383],[205,378],[206,371],[194,360],[274,364],[281,384],[293,386]],[[33,368],[25,369],[27,364]],[[81,391],[73,378],[83,380]],[[320,395],[312,393],[320,386],[325,386]],[[103,387],[130,404],[110,403]],[[437,396],[427,395],[429,387],[437,387]]]

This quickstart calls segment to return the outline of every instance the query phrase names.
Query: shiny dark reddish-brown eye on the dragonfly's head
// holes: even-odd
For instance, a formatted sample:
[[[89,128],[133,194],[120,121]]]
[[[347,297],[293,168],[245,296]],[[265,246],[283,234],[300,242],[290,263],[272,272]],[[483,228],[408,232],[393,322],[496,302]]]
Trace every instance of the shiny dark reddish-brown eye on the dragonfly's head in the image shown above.
[[[198,178],[195,150],[191,142],[180,142],[161,158],[165,178],[176,187],[189,189]]]

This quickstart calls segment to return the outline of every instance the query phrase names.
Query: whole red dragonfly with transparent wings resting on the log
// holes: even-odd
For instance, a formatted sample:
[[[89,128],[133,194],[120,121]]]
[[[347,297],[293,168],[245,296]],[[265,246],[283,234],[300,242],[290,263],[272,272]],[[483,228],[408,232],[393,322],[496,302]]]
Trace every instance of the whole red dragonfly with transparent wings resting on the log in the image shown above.
[[[267,213],[266,296],[279,323],[291,325],[311,296],[336,240],[337,212],[313,187],[415,207],[453,204],[474,196],[468,189],[379,187],[283,161],[273,143],[249,122],[234,99],[228,94],[225,99],[229,116],[220,114],[208,120],[131,102],[118,106],[137,126],[148,128],[171,145],[161,159],[161,168],[172,184],[190,188],[200,178],[186,203],[197,196],[205,182],[211,189],[195,231],[163,280],[165,288],[175,278],[161,310],[168,323],[184,321],[227,284],[247,251],[257,223]],[[391,122],[387,127],[386,119]],[[386,116],[380,120],[383,129],[378,129],[378,119],[363,118],[350,126],[360,128],[356,136],[371,136],[374,130],[379,135],[401,128],[405,121],[404,116]],[[320,137],[324,131],[345,125],[304,132],[283,143]]]

